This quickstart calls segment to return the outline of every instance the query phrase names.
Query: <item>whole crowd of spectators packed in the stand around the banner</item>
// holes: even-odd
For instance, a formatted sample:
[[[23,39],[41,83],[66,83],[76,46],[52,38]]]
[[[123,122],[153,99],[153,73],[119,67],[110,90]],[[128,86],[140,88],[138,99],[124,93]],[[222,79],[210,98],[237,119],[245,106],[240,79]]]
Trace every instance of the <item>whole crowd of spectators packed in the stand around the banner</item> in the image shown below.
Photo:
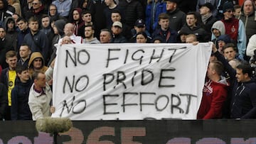
[[[256,117],[256,0],[0,0],[0,120],[55,111],[55,44],[213,42],[198,119]]]

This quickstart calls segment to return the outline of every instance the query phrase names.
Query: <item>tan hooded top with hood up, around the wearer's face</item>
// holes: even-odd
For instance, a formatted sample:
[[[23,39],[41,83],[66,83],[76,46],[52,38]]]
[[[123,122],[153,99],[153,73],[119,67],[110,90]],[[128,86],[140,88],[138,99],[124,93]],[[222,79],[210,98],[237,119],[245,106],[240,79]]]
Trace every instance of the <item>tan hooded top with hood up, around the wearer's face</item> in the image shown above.
[[[35,70],[34,67],[33,67],[33,61],[36,58],[41,58],[41,60],[42,60],[42,66],[41,66],[41,69],[39,69],[39,70]],[[48,67],[45,66],[45,62],[43,60],[43,55],[41,55],[40,52],[33,52],[31,54],[31,58],[30,58],[30,60],[28,62],[28,72],[29,72],[29,75],[32,76],[33,72],[46,72],[47,69],[48,69]]]

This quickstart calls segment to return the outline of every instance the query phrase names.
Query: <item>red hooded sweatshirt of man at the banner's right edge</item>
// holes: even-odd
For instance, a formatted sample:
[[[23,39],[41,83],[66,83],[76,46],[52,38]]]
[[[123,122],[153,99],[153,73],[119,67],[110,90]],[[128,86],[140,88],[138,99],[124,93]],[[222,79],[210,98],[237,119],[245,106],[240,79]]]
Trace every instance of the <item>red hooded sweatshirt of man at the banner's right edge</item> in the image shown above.
[[[203,86],[203,97],[198,110],[198,119],[221,118],[222,108],[228,96],[228,82],[225,77],[220,77],[220,81],[208,81]]]

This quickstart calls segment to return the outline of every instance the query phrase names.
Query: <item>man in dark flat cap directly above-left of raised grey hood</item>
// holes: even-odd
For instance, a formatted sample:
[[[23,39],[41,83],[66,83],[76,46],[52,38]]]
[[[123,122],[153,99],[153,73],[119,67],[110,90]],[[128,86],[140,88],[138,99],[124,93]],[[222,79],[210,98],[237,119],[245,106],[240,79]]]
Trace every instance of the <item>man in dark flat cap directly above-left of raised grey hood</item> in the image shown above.
[[[217,18],[213,16],[213,9],[213,5],[210,3],[203,4],[199,9],[203,24],[205,25],[205,29],[208,33],[211,33],[213,23],[217,21]]]

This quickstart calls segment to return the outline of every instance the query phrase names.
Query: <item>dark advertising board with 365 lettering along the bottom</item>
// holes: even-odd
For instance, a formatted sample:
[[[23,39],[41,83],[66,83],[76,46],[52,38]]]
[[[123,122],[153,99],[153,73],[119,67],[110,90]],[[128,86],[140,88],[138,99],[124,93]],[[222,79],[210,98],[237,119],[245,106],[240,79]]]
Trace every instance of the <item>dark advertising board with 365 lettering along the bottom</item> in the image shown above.
[[[35,121],[1,121],[0,144],[53,143],[49,133],[38,133]],[[255,120],[73,121],[58,143],[75,144],[252,144]]]

